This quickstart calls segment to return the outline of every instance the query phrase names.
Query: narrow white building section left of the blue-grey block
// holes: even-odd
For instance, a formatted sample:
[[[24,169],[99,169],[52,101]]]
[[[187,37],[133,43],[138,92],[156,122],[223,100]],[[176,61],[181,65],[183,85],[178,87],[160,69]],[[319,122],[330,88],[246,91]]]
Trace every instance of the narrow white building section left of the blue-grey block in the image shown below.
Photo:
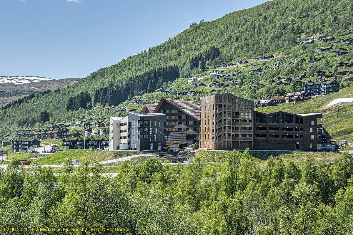
[[[127,116],[111,117],[109,119],[109,150],[126,150],[128,149],[128,130]]]

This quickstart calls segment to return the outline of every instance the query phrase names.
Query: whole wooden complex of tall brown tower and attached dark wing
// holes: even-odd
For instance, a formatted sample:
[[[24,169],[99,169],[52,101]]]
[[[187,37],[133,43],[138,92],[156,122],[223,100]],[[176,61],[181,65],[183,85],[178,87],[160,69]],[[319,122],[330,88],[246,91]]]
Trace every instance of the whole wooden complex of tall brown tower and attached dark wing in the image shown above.
[[[331,144],[322,113],[262,113],[232,94],[201,97],[200,147],[317,151]]]

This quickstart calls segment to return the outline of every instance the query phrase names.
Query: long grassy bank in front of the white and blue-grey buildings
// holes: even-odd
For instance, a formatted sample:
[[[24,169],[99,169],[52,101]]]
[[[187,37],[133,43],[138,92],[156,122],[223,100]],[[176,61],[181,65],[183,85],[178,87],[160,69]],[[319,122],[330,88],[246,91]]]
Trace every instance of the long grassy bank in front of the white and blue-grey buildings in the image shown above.
[[[38,159],[38,162],[43,165],[59,165],[65,161],[66,158],[84,160],[88,159],[91,163],[118,159],[131,155],[141,154],[140,151],[91,151],[91,150],[69,150],[67,152],[56,152],[48,156]]]

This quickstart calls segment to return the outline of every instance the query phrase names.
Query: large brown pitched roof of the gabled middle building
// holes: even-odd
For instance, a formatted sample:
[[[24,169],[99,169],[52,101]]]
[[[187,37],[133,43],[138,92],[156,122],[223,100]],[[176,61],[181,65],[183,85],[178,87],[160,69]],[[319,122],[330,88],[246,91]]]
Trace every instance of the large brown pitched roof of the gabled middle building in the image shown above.
[[[178,109],[184,111],[195,119],[200,119],[200,105],[193,100],[188,99],[174,99],[174,98],[166,98],[163,97],[161,101],[159,101],[158,106],[154,110],[157,112],[159,107],[162,105],[163,101],[167,101],[171,105],[177,107]]]

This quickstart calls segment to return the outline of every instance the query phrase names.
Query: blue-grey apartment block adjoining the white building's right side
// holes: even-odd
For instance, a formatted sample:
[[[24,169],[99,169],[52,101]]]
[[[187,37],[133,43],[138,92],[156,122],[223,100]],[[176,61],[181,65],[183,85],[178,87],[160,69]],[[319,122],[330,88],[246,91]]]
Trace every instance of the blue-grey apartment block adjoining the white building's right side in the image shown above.
[[[166,115],[130,112],[127,119],[129,149],[163,150]]]

